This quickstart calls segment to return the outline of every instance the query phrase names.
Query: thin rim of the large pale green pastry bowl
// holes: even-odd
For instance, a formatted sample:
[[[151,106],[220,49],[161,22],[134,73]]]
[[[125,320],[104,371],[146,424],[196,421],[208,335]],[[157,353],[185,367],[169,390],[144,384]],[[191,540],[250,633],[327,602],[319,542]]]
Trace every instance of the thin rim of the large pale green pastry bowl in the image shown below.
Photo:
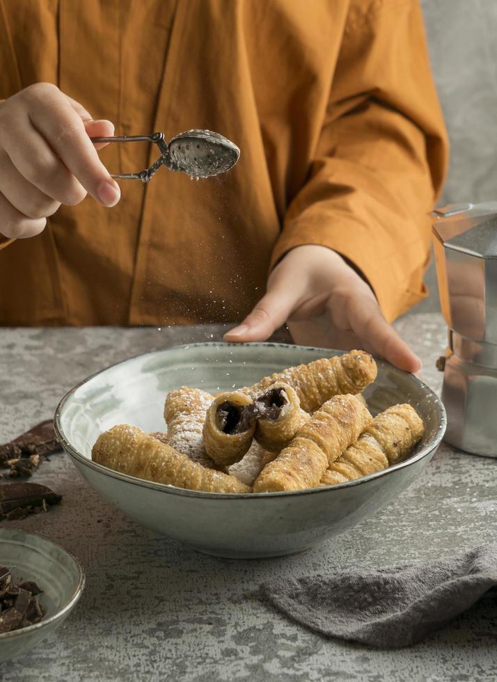
[[[90,379],[93,379],[95,376],[98,374],[102,374],[102,372],[105,372],[106,370],[111,369],[111,367],[117,367],[118,365],[124,365],[125,363],[129,363],[132,360],[135,360],[136,358],[141,358],[141,357],[146,357],[149,355],[155,355],[157,353],[161,352],[167,352],[167,351],[174,351],[174,350],[181,350],[181,349],[191,349],[191,348],[205,348],[205,347],[217,347],[223,346],[226,348],[229,347],[242,347],[242,346],[251,346],[251,347],[261,347],[261,348],[294,348],[294,349],[301,349],[303,351],[319,351],[320,353],[323,354],[323,357],[326,356],[333,356],[333,355],[342,355],[346,353],[347,351],[339,351],[331,348],[318,348],[318,347],[313,347],[313,346],[300,346],[297,344],[287,344],[287,343],[275,343],[275,342],[251,342],[251,343],[245,343],[245,344],[239,344],[239,343],[228,343],[228,342],[216,342],[216,341],[205,341],[205,342],[200,342],[200,343],[189,343],[189,344],[180,344],[178,346],[172,346],[164,349],[156,349],[155,351],[149,351],[148,353],[139,353],[135,356],[132,356],[131,358],[126,358],[125,360],[120,360],[118,363],[113,363],[112,365],[109,365],[108,367],[105,367],[104,370],[99,370],[98,372],[94,372],[93,374],[90,374],[90,376],[87,376],[86,379],[83,379],[83,381],[80,381],[74,388],[71,388],[70,391],[68,391],[65,396],[61,399],[61,402],[59,402],[55,415],[54,415],[54,428],[56,432],[56,436],[58,438],[58,441],[61,443],[62,447],[64,448],[65,452],[68,452],[70,454],[70,457],[72,459],[77,460],[79,463],[83,464],[84,466],[88,466],[90,469],[94,469],[96,471],[99,471],[100,473],[103,473],[106,476],[116,478],[118,480],[127,482],[127,483],[132,483],[135,485],[139,485],[142,488],[151,488],[154,490],[158,491],[163,491],[165,493],[172,493],[173,495],[183,495],[184,497],[194,497],[194,498],[214,498],[216,500],[257,500],[260,498],[265,498],[265,499],[270,499],[270,498],[281,498],[281,497],[287,497],[287,496],[296,496],[296,495],[319,495],[320,493],[329,493],[330,491],[333,490],[338,490],[338,489],[343,489],[343,488],[351,488],[352,486],[357,486],[361,485],[363,483],[367,483],[368,481],[379,478],[381,476],[388,476],[389,474],[393,473],[394,471],[397,471],[399,469],[402,469],[406,466],[410,466],[414,462],[419,461],[420,459],[423,459],[424,457],[427,457],[427,455],[431,454],[433,450],[436,449],[441,443],[441,440],[443,438],[443,434],[445,434],[445,428],[447,427],[447,415],[445,413],[445,408],[443,406],[443,403],[441,402],[441,399],[436,395],[436,393],[427,386],[426,383],[418,379],[417,376],[413,376],[413,374],[409,374],[409,372],[404,372],[403,370],[397,369],[397,367],[394,367],[390,363],[386,362],[386,360],[379,360],[377,358],[374,358],[377,365],[379,367],[388,367],[395,372],[400,372],[401,374],[409,374],[411,376],[411,379],[415,381],[415,383],[418,383],[418,386],[426,393],[426,395],[431,396],[433,399],[433,404],[434,408],[439,411],[439,418],[440,418],[440,425],[439,425],[439,430],[437,433],[430,439],[425,444],[425,447],[418,452],[416,455],[413,457],[409,457],[408,459],[405,459],[404,461],[394,464],[393,466],[389,466],[386,469],[383,469],[381,471],[377,471],[372,474],[368,474],[367,476],[363,476],[361,478],[355,479],[353,481],[347,481],[346,483],[340,483],[336,484],[333,486],[322,486],[319,488],[308,488],[306,490],[293,490],[293,491],[283,491],[283,492],[278,492],[278,493],[206,493],[203,491],[196,491],[196,490],[187,490],[184,488],[176,488],[175,486],[169,486],[164,483],[154,483],[152,481],[145,481],[145,479],[141,478],[136,478],[134,476],[129,476],[128,474],[123,474],[118,471],[114,471],[113,469],[107,468],[107,466],[103,466],[102,464],[97,464],[96,462],[92,461],[91,459],[88,459],[88,457],[84,457],[83,454],[78,452],[75,447],[73,447],[70,442],[68,441],[68,438],[65,437],[63,428],[61,426],[61,413],[63,412],[65,403],[70,399],[72,394],[78,390],[80,386],[83,386],[87,381],[90,381]]]

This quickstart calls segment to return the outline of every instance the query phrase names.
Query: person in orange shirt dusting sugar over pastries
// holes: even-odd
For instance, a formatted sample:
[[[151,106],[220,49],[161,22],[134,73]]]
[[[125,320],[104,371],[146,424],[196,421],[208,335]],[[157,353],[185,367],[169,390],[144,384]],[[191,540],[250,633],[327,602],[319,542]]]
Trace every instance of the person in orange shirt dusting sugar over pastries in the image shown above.
[[[0,35],[0,324],[287,322],[418,370],[389,323],[448,155],[418,0],[0,0]],[[157,150],[90,141],[190,128],[237,166],[118,185]]]

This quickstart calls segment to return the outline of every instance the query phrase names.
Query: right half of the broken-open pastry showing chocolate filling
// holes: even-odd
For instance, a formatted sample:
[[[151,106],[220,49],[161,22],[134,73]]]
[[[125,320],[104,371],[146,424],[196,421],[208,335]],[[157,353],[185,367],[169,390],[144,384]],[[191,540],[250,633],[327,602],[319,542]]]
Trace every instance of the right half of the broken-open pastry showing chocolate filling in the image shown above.
[[[292,386],[276,381],[254,399],[255,440],[269,452],[288,445],[301,422],[299,396]]]

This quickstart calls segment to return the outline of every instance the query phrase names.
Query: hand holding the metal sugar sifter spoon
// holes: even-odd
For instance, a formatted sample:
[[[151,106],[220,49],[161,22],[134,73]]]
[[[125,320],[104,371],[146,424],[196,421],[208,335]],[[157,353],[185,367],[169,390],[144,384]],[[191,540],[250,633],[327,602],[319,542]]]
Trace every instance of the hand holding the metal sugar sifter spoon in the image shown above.
[[[61,204],[89,193],[104,206],[119,185],[90,137],[109,137],[107,120],[92,120],[81,104],[49,83],[37,83],[0,104],[0,235],[33,237]]]

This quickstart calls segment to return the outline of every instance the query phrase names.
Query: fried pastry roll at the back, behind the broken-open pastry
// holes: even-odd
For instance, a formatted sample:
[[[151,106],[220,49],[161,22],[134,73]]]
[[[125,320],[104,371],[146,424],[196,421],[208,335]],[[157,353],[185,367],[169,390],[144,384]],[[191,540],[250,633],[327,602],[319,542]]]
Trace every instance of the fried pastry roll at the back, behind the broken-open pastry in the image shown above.
[[[283,381],[297,391],[301,408],[313,412],[334,395],[360,393],[376,376],[377,365],[370,354],[350,351],[333,358],[315,360],[308,365],[290,367],[241,390],[255,397],[276,381]]]

